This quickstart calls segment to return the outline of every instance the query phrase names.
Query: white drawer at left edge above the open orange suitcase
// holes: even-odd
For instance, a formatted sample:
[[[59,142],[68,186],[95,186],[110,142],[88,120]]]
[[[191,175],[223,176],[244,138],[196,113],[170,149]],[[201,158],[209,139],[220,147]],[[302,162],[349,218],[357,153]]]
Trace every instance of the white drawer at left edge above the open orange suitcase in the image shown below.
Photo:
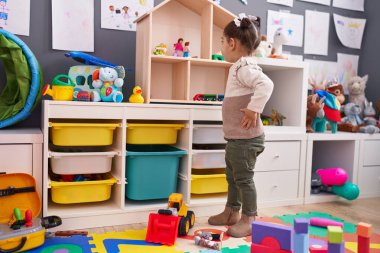
[[[0,144],[0,172],[32,174],[32,156],[31,144]]]

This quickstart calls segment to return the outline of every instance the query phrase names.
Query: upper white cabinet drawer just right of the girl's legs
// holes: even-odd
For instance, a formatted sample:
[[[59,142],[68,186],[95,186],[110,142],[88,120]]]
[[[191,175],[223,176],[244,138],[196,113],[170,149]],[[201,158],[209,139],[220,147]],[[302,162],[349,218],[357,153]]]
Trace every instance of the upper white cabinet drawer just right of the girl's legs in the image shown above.
[[[265,142],[265,150],[256,161],[255,171],[299,170],[299,141]]]

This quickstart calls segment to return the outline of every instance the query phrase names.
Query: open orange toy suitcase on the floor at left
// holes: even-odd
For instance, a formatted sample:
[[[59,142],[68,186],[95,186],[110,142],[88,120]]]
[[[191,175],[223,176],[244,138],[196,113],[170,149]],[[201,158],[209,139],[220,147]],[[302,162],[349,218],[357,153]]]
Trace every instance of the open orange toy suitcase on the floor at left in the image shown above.
[[[59,226],[62,221],[57,216],[40,219],[40,213],[41,200],[31,175],[0,174],[0,253],[21,252],[44,244],[45,229]]]

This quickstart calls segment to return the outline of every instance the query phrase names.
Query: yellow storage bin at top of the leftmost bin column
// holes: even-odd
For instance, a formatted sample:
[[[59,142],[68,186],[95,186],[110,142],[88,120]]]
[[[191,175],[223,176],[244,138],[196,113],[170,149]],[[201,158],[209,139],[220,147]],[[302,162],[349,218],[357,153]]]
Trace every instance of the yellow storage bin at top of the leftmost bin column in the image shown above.
[[[108,146],[118,123],[50,123],[56,146]]]

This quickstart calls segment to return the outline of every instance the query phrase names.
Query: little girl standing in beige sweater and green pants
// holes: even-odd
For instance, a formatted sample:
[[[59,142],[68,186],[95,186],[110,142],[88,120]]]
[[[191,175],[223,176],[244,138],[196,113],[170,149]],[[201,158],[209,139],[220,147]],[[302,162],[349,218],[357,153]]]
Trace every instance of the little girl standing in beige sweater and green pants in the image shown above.
[[[223,56],[235,62],[229,70],[222,107],[228,195],[224,211],[208,222],[231,226],[227,234],[233,237],[250,235],[257,215],[253,170],[264,151],[260,113],[273,91],[273,82],[252,57],[260,43],[259,27],[258,17],[240,14],[224,28],[222,37]]]

